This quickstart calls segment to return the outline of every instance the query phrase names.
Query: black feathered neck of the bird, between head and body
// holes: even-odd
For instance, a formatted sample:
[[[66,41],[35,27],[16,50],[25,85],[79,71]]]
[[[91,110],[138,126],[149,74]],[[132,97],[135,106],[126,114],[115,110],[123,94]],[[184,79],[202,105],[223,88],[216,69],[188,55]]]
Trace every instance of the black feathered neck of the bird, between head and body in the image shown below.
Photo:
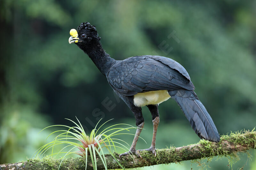
[[[86,46],[82,50],[92,59],[92,62],[105,76],[110,67],[116,62],[115,59],[111,58],[110,55],[105,52],[100,42]]]

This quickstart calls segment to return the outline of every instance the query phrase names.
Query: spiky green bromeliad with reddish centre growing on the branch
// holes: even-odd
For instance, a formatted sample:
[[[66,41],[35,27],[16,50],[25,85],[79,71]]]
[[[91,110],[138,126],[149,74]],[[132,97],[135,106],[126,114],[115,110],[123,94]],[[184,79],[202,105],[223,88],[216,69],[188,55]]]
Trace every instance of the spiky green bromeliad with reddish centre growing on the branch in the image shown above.
[[[96,154],[97,154],[97,155],[99,155],[105,169],[107,169],[107,163],[106,163],[106,159],[105,159],[105,156],[104,156],[105,153],[102,149],[102,148],[105,147],[108,150],[108,152],[112,155],[112,157],[116,160],[116,162],[124,169],[124,167],[119,163],[119,161],[116,159],[116,157],[111,152],[111,147],[113,147],[114,149],[116,149],[116,147],[121,148],[125,152],[128,151],[129,148],[127,148],[124,144],[120,143],[120,142],[123,142],[123,143],[127,144],[125,141],[123,141],[121,139],[117,139],[117,138],[112,138],[112,137],[116,136],[116,135],[121,135],[121,134],[133,135],[133,134],[130,134],[130,133],[122,133],[122,131],[124,131],[124,130],[129,131],[129,129],[137,129],[136,127],[133,127],[129,124],[121,123],[121,124],[115,124],[115,125],[109,126],[109,127],[100,131],[100,129],[102,129],[102,126],[105,123],[107,123],[108,121],[103,123],[99,127],[99,129],[96,129],[99,122],[100,122],[99,121],[97,123],[97,125],[95,126],[95,128],[91,131],[90,135],[88,136],[85,133],[84,128],[83,128],[82,124],[79,122],[78,119],[77,119],[77,121],[78,121],[79,124],[77,124],[76,122],[74,122],[70,119],[67,119],[67,120],[73,122],[75,124],[75,126],[70,127],[70,126],[66,126],[66,125],[52,125],[52,126],[46,127],[46,128],[49,128],[49,127],[53,127],[53,126],[61,126],[61,127],[68,128],[68,130],[57,130],[57,131],[52,132],[50,135],[48,135],[48,137],[50,137],[54,133],[57,133],[57,132],[60,133],[59,135],[57,135],[54,138],[54,140],[52,142],[50,142],[48,144],[45,144],[44,146],[40,147],[35,152],[36,157],[42,158],[42,156],[49,149],[52,149],[52,154],[50,156],[58,155],[59,153],[65,153],[65,155],[62,157],[62,160],[60,162],[60,165],[61,165],[63,159],[67,155],[75,153],[77,155],[85,157],[85,169],[86,169],[86,167],[87,167],[87,156],[90,156],[91,160],[92,160],[93,169],[97,170],[97,161],[96,161]],[[127,128],[117,127],[119,125],[126,125],[128,127]],[[44,129],[46,129],[46,128],[44,128]],[[66,144],[66,146],[63,147],[59,152],[53,153],[54,146],[59,145],[59,144]],[[129,146],[129,144],[127,144],[127,145]],[[68,150],[68,152],[64,152],[63,150],[68,148],[68,147],[71,148],[71,149]],[[76,149],[76,148],[78,149],[78,151],[74,151],[74,149]],[[60,166],[59,166],[59,168],[60,168]]]

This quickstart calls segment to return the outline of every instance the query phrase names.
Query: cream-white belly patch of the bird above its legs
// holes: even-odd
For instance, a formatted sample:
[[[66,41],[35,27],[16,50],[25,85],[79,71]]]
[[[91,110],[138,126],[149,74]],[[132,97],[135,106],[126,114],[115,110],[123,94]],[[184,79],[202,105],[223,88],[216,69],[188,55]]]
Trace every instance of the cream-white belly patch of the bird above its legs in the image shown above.
[[[134,95],[134,105],[142,107],[146,105],[160,104],[165,100],[168,100],[171,96],[167,90],[157,90],[150,92],[142,92]]]

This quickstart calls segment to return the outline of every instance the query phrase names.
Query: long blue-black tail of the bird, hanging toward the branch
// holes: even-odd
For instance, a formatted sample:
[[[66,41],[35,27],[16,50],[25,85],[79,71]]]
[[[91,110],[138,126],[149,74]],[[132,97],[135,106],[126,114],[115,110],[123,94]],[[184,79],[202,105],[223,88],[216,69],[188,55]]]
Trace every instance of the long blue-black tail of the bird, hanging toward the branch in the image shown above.
[[[211,116],[194,91],[176,90],[169,91],[169,94],[172,99],[176,100],[190,125],[201,139],[204,138],[213,142],[220,141],[220,135]]]

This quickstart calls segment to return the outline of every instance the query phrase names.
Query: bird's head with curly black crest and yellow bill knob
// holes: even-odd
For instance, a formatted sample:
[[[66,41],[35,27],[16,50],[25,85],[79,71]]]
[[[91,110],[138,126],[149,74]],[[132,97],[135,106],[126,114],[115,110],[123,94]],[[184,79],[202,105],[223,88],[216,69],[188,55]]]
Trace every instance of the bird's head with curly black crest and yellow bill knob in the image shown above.
[[[83,22],[77,29],[71,29],[70,35],[68,39],[69,44],[76,43],[81,49],[100,42],[96,27],[90,25],[89,22]]]

